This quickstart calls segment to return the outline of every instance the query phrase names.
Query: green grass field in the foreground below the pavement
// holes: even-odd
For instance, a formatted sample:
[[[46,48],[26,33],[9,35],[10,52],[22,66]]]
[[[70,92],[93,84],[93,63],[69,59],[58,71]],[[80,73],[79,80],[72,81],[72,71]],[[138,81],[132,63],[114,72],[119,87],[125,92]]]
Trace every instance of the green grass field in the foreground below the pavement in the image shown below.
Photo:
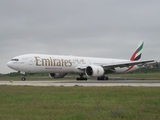
[[[159,87],[0,86],[0,119],[160,119]]]

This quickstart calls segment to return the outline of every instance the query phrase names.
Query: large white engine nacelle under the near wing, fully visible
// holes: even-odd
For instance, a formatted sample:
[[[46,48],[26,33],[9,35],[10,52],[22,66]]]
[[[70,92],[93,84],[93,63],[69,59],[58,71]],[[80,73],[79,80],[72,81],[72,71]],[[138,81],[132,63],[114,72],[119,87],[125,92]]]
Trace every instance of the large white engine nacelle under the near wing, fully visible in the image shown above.
[[[85,70],[87,76],[100,77],[104,75],[104,69],[101,66],[91,65]]]

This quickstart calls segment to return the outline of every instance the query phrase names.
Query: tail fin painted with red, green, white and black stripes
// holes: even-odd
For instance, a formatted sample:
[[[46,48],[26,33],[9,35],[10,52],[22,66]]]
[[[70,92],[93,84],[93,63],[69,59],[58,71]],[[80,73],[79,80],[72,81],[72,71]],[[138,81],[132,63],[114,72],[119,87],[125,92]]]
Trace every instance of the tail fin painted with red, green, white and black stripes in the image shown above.
[[[136,61],[136,60],[139,60],[141,58],[143,45],[144,45],[144,42],[140,41],[137,49],[135,50],[135,52],[133,53],[133,55],[130,58],[131,61]]]

